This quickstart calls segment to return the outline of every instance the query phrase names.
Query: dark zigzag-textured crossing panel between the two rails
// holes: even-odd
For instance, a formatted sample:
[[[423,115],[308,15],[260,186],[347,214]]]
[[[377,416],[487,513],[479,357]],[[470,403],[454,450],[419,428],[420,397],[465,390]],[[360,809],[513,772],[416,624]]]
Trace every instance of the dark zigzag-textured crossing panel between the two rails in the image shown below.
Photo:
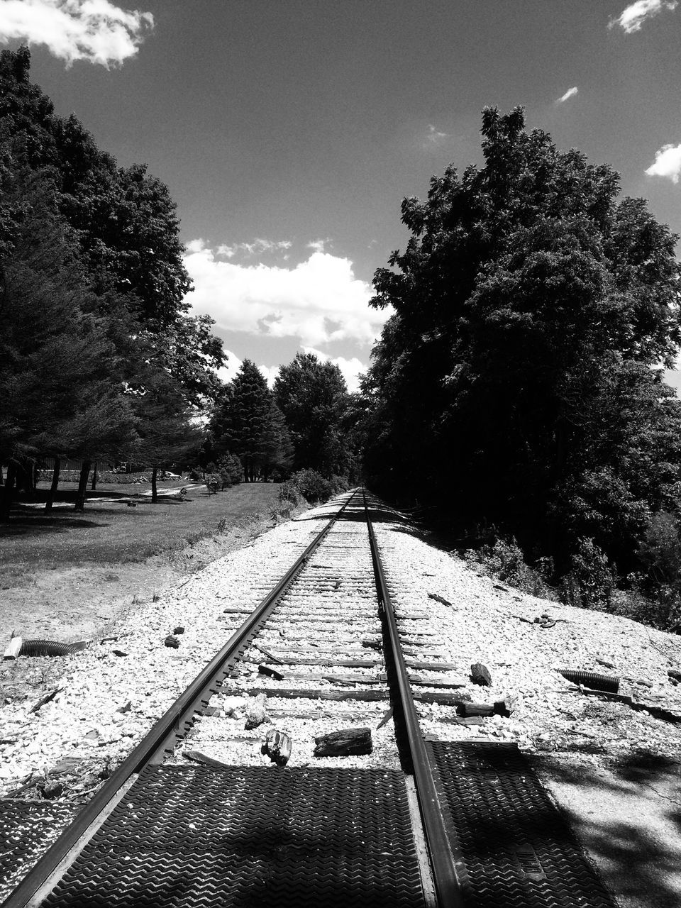
[[[148,766],[45,904],[420,908],[403,776]]]

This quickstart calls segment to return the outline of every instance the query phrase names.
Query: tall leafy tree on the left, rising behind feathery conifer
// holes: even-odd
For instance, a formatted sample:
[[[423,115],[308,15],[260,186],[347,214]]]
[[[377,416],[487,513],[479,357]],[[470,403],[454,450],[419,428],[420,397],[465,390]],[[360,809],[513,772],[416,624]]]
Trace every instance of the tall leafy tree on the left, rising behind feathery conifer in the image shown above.
[[[143,164],[121,168],[71,114],[58,117],[29,78],[27,48],[0,54],[0,141],[35,173],[48,174],[74,233],[100,314],[121,314],[192,404],[212,400],[224,362],[212,320],[190,317],[175,204]],[[133,317],[131,326],[129,316]]]

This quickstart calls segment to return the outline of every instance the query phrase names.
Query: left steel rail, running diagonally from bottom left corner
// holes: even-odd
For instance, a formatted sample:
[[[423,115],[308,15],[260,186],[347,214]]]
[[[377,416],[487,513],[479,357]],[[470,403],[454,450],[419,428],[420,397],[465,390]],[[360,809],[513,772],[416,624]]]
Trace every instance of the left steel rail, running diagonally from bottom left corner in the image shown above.
[[[163,751],[163,745],[179,730],[183,721],[191,718],[205,691],[215,682],[218,676],[224,673],[224,666],[231,658],[238,655],[240,648],[252,634],[252,631],[270,615],[281,596],[305,566],[315,548],[328,535],[333,524],[341,517],[342,512],[357,494],[358,491],[352,492],[350,498],[342,505],[338,513],[312,539],[310,545],[305,548],[301,556],[281,577],[279,583],[272,587],[268,595],[262,599],[260,605],[252,611],[241,627],[222,646],[220,652],[213,656],[212,660],[194,678],[183,694],[174,701],[173,705],[144,735],[142,741],[134,747],[133,751],[123,760],[123,763],[106,780],[92,800],[85,804],[80,813],[76,814],[72,823],[64,829],[64,832],[54,841],[32,870],[25,875],[13,892],[9,893],[0,908],[25,908],[25,905],[33,898],[49,876],[54,873],[58,865],[64,860],[64,857],[69,854],[81,836],[87,832],[87,829],[94,824],[94,821],[104,811],[106,805],[109,804],[130,777],[138,773],[143,765],[153,761],[153,758]]]

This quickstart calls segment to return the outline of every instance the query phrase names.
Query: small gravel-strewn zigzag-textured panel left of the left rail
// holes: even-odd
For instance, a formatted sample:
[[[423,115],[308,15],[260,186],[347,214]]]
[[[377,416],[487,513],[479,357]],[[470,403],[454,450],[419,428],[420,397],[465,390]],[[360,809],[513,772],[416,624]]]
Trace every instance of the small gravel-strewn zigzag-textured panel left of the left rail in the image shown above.
[[[0,902],[72,821],[78,807],[49,801],[0,801]]]

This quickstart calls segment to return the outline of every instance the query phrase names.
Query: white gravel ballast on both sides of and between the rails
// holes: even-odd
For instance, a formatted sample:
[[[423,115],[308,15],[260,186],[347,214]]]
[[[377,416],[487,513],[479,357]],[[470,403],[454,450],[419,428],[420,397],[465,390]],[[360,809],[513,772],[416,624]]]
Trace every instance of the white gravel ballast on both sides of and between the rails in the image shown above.
[[[88,650],[64,659],[63,676],[57,685],[60,692],[36,713],[30,712],[34,700],[0,706],[0,736],[7,742],[0,745],[0,796],[6,796],[36,774],[49,773],[64,756],[83,758],[84,765],[93,773],[122,759],[239,627],[244,616],[225,614],[223,609],[254,607],[336,508],[331,504],[307,511],[301,518],[263,534],[252,545],[212,563],[185,586],[159,601],[136,606],[114,626],[111,634],[115,640],[95,641]],[[637,701],[664,706],[681,715],[681,686],[672,686],[666,675],[667,667],[681,662],[679,637],[626,618],[558,605],[518,593],[506,585],[495,585],[459,558],[405,532],[404,527],[377,523],[375,528],[398,614],[401,610],[428,615],[402,622],[405,640],[410,642],[410,654],[413,654],[410,658],[441,659],[456,666],[446,673],[419,671],[415,675],[465,685],[452,688],[452,692],[468,694],[477,702],[492,702],[506,695],[516,698],[510,718],[493,717],[473,727],[443,722],[442,719],[453,718],[451,706],[421,704],[419,712],[426,732],[450,740],[471,736],[516,740],[528,751],[597,741],[614,750],[648,747],[668,755],[681,753],[681,725],[646,712],[634,712],[624,704],[578,693],[575,686],[558,674],[560,667],[568,667],[646,680],[652,687],[623,681],[620,691],[630,693]],[[353,547],[361,532],[360,523],[340,525],[339,533],[347,534],[347,541],[341,544]],[[344,550],[338,549],[335,554],[339,551]],[[334,597],[348,594],[354,597],[357,607],[366,605],[369,615],[370,602],[360,589],[366,562],[358,562],[356,571],[350,571],[357,578],[354,588],[354,581],[348,580],[347,588],[341,586],[340,590],[334,590],[332,577],[326,577],[329,572],[324,569],[329,563],[328,554],[325,550],[318,552],[308,569],[309,573],[318,575],[318,586],[324,587],[323,590],[303,591],[291,600],[291,607],[301,610],[306,596],[310,597],[312,606],[320,597],[332,603]],[[360,558],[353,548],[348,548],[344,557],[350,561]],[[350,562],[347,566],[351,567]],[[429,593],[448,599],[452,607],[429,598]],[[542,630],[518,618],[533,620],[544,612],[564,620]],[[310,627],[301,622],[301,617],[289,623],[281,618],[280,626],[274,626],[284,631],[280,649],[284,641],[307,647]],[[180,647],[173,650],[164,646],[165,637],[179,626],[184,627],[183,635],[178,636]],[[274,628],[262,636],[262,646],[274,646]],[[331,623],[326,629],[333,628]],[[348,652],[350,656],[353,652],[358,655],[360,637],[380,637],[370,617],[363,618],[359,627],[339,625],[338,636],[331,635],[327,642],[332,653],[347,657]],[[422,646],[415,646],[416,643]],[[321,652],[322,647],[319,648]],[[118,656],[116,651],[126,655]],[[371,649],[364,650],[364,654],[380,657]],[[611,662],[612,671],[599,665],[597,657]],[[493,681],[491,689],[469,683],[469,669],[474,662],[488,666]],[[255,665],[252,667],[256,669]],[[327,671],[378,676],[381,666],[361,669],[294,666],[294,673],[301,676],[319,676]],[[271,696],[276,696],[278,687],[291,686],[291,682],[278,683],[263,676],[248,676],[238,681],[237,693],[253,686],[268,689]],[[308,686],[304,680],[296,684]],[[312,685],[320,686],[320,682],[311,682],[309,686]],[[370,687],[375,689],[374,685]],[[417,689],[429,688],[419,685]],[[280,702],[291,709],[294,701]],[[315,708],[326,709],[332,716],[334,704],[318,702]],[[350,715],[370,714],[371,722],[366,724],[372,725],[385,707],[381,703],[349,705],[344,701],[337,708],[341,712],[350,711]],[[293,718],[286,721],[293,734],[299,735],[300,742],[306,741],[291,761],[304,762],[309,759],[313,725],[307,722],[299,729]],[[344,722],[349,720],[346,718]],[[376,724],[373,723],[374,728]],[[205,739],[206,745],[208,727],[204,719],[196,732],[203,735],[201,740]],[[387,740],[390,727],[385,725],[381,734],[375,734],[378,755],[382,735]],[[282,730],[286,730],[286,723]],[[244,743],[245,750],[249,747],[252,751],[255,745]],[[235,758],[241,756],[238,750],[232,754]],[[394,758],[391,752],[384,756],[389,764]]]

